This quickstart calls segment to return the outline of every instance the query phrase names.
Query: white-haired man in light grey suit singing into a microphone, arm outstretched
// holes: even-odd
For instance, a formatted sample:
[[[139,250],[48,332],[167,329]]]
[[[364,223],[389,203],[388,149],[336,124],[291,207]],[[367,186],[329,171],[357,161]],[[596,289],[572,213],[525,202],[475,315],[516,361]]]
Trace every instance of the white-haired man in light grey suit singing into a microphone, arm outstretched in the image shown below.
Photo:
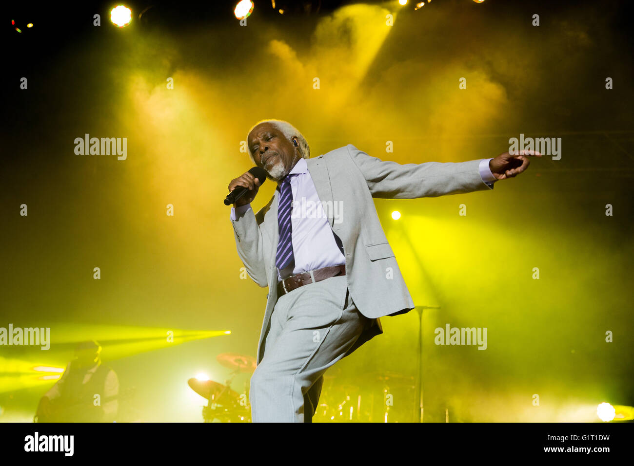
[[[487,191],[526,170],[526,155],[540,156],[400,165],[348,144],[309,158],[304,136],[281,120],[256,123],[247,144],[278,184],[257,213],[250,203],[262,180],[247,172],[229,184],[249,189],[231,208],[238,255],[269,287],[250,382],[253,422],[311,422],[328,367],[381,334],[379,317],[414,308],[372,198]]]

